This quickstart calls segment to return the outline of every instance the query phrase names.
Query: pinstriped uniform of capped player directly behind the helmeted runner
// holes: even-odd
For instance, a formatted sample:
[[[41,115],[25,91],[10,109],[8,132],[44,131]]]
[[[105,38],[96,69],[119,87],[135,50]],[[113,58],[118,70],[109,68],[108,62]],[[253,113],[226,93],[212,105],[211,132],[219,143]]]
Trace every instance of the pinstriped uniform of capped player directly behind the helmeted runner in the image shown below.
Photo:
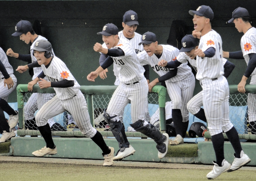
[[[42,36],[38,36],[30,46],[30,54],[31,54],[31,59],[32,62],[37,61],[35,56],[33,56],[33,48],[35,46],[36,41],[38,40],[47,40],[46,38]],[[52,50],[53,53],[53,50]],[[54,53],[53,53],[54,55]],[[34,75],[32,77],[32,80],[34,80],[42,71],[41,67],[35,67],[33,68],[34,70]],[[25,120],[31,120],[35,117],[35,112],[42,107],[47,101],[52,99],[55,94],[41,94],[41,93],[33,93],[30,97],[27,103],[24,106],[24,119]],[[49,120],[50,126],[54,123],[53,119]]]

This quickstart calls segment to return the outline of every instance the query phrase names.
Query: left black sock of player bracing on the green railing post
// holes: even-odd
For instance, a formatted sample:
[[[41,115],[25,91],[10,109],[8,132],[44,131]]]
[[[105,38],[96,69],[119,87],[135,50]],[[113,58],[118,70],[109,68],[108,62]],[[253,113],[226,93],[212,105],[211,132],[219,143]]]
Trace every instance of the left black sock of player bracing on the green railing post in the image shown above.
[[[183,136],[182,114],[180,109],[172,109],[172,120],[176,134]]]

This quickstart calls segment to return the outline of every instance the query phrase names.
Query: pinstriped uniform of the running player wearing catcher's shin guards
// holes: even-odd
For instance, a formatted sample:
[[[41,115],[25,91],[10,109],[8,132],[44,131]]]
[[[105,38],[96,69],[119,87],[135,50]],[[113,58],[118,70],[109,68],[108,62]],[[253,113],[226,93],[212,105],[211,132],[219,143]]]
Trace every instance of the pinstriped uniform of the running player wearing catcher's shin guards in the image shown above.
[[[144,77],[144,68],[140,65],[134,48],[126,40],[120,38],[113,48],[121,48],[124,56],[112,57],[119,72],[120,84],[116,88],[107,107],[110,116],[121,114],[124,107],[131,102],[132,122],[145,120],[147,113],[148,84]],[[129,84],[129,85],[128,85]],[[120,121],[119,117],[113,120]]]

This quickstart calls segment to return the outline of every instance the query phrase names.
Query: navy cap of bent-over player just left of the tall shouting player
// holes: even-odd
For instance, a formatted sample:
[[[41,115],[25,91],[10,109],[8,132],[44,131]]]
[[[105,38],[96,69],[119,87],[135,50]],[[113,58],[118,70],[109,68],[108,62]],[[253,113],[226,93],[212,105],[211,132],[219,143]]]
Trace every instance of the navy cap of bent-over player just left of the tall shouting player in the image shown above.
[[[184,36],[181,40],[182,48],[180,49],[180,52],[193,50],[193,48],[199,44],[198,40],[199,39],[195,38],[193,35]]]

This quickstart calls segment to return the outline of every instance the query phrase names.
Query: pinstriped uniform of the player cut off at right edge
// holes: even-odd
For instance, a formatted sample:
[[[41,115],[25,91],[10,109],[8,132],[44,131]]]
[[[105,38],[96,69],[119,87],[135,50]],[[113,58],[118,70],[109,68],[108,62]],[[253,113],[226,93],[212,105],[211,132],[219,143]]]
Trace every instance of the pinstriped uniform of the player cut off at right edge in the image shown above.
[[[256,53],[256,28],[250,28],[241,38],[241,50],[244,60],[248,65],[249,54]],[[256,85],[256,69],[251,74],[250,85]],[[256,94],[248,93],[248,118],[249,122],[256,121]]]

